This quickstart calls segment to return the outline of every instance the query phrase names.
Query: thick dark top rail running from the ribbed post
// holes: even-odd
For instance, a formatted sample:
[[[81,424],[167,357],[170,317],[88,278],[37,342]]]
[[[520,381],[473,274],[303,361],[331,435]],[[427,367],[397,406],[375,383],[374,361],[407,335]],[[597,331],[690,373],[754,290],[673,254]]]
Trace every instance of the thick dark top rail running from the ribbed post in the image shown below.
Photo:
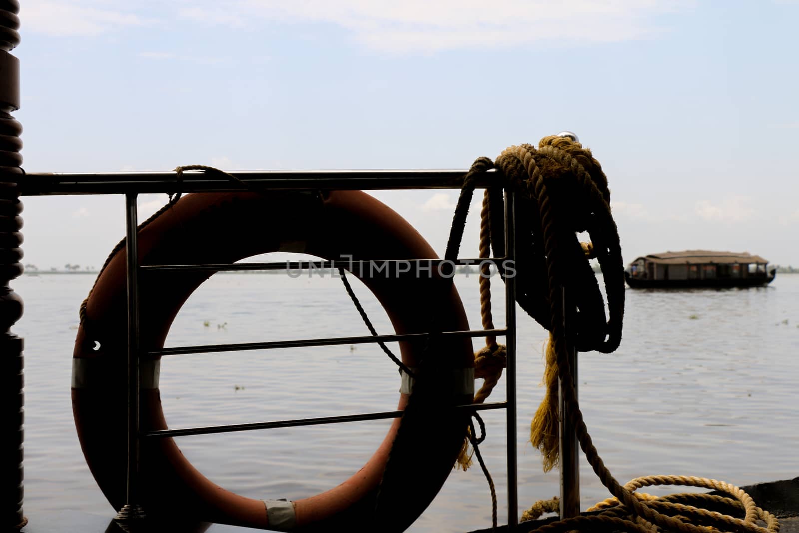
[[[493,173],[494,171],[490,171]],[[252,190],[263,189],[460,189],[465,169],[397,170],[252,170],[230,174]],[[495,184],[495,178],[475,178],[479,188]],[[46,194],[184,193],[247,189],[218,173],[187,170],[180,182],[177,173],[28,173],[18,186],[22,196]]]

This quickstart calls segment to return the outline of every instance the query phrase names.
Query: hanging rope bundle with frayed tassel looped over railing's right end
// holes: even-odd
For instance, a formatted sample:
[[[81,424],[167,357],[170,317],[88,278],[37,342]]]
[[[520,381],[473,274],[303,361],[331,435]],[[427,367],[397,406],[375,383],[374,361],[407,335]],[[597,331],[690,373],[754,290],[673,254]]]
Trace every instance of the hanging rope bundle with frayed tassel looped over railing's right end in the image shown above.
[[[503,257],[504,225],[502,188],[515,190],[517,194],[517,216],[515,217],[516,255],[511,265],[516,276],[516,299],[519,305],[545,328],[552,328],[553,297],[550,285],[564,287],[574,295],[577,315],[570,339],[581,351],[598,350],[612,352],[621,340],[624,309],[624,279],[622,276],[621,246],[618,232],[610,217],[610,192],[607,179],[599,162],[583,149],[578,142],[567,137],[544,137],[539,149],[531,145],[511,146],[496,160],[481,157],[464,180],[463,190],[447,244],[447,250],[459,245],[463,234],[465,212],[471,201],[475,178],[496,169],[493,177],[495,187],[487,189],[483,198],[480,225],[480,257],[489,257],[494,249],[495,257]],[[546,225],[547,232],[544,231]],[[587,231],[592,243],[580,243],[576,233]],[[550,254],[545,249],[545,239],[551,240],[551,253],[562,256],[559,268],[551,264]],[[552,243],[557,241],[557,246]],[[455,244],[457,243],[457,244]],[[610,320],[606,321],[602,292],[587,259],[596,257],[600,265],[612,272],[617,265],[618,276],[605,278]],[[554,261],[554,260],[553,260]],[[483,268],[487,268],[483,264]],[[511,272],[505,265],[498,265],[503,279]],[[480,307],[483,327],[491,324],[491,292],[488,276],[480,276]],[[559,298],[555,297],[555,300]],[[559,302],[555,301],[555,305]],[[497,350],[495,339],[487,339],[487,348],[479,356]],[[545,469],[558,463],[557,432],[557,367],[555,366],[555,344],[547,348],[547,384],[549,386],[539,412],[531,424],[531,441],[543,453]],[[498,354],[499,355],[499,354]],[[476,362],[476,361],[475,361]],[[501,370],[500,370],[501,372]],[[475,376],[477,372],[475,371]],[[475,401],[482,401],[495,384],[495,373],[481,388],[483,394]],[[555,396],[553,396],[555,395]],[[468,455],[460,456],[459,467],[468,466]]]

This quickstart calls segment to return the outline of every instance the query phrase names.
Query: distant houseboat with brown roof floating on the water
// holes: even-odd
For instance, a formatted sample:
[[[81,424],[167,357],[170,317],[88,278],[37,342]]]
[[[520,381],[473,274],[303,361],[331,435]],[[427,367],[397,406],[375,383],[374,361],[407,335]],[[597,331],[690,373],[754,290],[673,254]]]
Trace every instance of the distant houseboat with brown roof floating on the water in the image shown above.
[[[777,268],[750,253],[686,250],[638,257],[624,271],[632,288],[756,287],[769,284]]]

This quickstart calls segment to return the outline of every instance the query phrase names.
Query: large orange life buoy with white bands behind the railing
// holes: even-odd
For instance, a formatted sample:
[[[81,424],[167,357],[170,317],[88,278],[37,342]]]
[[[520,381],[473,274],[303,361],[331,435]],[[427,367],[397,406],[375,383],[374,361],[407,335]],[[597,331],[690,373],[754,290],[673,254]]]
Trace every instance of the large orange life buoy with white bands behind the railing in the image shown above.
[[[142,265],[233,263],[275,251],[304,252],[328,260],[435,258],[430,245],[400,215],[360,191],[319,193],[189,194],[142,225],[138,233]],[[114,508],[125,503],[127,422],[125,392],[127,307],[125,250],[117,252],[97,278],[86,303],[73,366],[73,411],[85,458]],[[359,276],[388,312],[397,333],[427,332],[431,314],[439,331],[467,329],[455,288],[434,274],[419,272]],[[366,272],[362,272],[366,273]],[[189,295],[210,272],[149,272],[142,276],[142,352],[163,347],[169,326]],[[443,291],[441,290],[443,288]],[[438,296],[435,296],[438,295]],[[426,342],[400,343],[408,367],[419,364]],[[97,347],[98,346],[98,347]],[[431,354],[443,366],[470,376],[471,339],[439,340]],[[141,431],[167,428],[158,390],[158,358],[141,360]],[[441,366],[441,365],[439,365]],[[468,379],[465,381],[469,381]],[[448,384],[451,386],[451,384]],[[471,403],[471,393],[453,389],[454,404]],[[408,401],[400,394],[399,408]],[[410,411],[405,417],[411,416]],[[451,471],[467,428],[467,416],[441,420],[425,435],[411,435],[413,449],[392,450],[400,428],[392,424],[372,458],[351,478],[319,495],[294,502],[251,499],[218,487],[181,454],[171,438],[141,440],[141,505],[149,515],[180,515],[215,523],[277,530],[316,531],[344,527],[360,531],[375,523],[376,494],[389,454],[414,455],[415,471],[392,476],[397,503],[391,523],[403,529],[431,502]],[[409,432],[419,424],[406,426]],[[404,428],[403,428],[404,429]],[[403,441],[407,441],[403,435]],[[400,440],[397,440],[398,442]],[[402,478],[402,479],[400,479]],[[394,527],[392,527],[393,529]]]

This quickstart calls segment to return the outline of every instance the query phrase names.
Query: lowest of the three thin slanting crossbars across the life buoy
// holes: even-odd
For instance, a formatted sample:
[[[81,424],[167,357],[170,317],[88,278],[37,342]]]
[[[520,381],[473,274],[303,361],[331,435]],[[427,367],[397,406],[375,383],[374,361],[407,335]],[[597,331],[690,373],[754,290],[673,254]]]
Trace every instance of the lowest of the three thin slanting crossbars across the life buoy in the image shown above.
[[[471,409],[487,411],[489,409],[507,408],[507,402],[491,402],[489,404],[458,405],[455,409]],[[298,426],[316,426],[320,424],[340,424],[342,422],[360,422],[363,420],[384,420],[399,418],[402,411],[370,412],[360,415],[320,416],[317,418],[300,418],[295,420],[276,420],[274,422],[252,422],[248,424],[227,424],[224,426],[207,426],[205,428],[161,429],[145,432],[145,437],[180,437],[189,435],[211,435],[213,433],[245,432],[254,429],[296,428]]]

